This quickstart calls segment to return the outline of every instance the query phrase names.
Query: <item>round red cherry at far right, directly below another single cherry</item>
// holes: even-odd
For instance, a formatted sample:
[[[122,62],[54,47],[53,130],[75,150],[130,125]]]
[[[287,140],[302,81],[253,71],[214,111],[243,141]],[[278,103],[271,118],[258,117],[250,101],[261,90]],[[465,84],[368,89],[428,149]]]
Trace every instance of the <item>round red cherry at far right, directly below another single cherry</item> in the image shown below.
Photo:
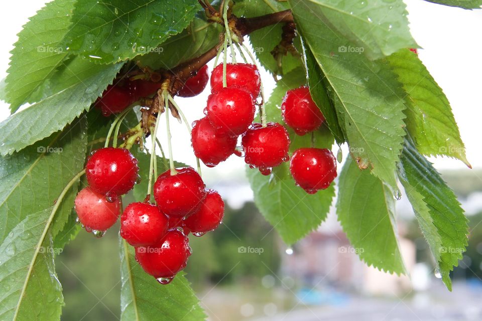
[[[297,149],[290,161],[291,176],[309,194],[324,190],[336,177],[336,159],[326,148]]]

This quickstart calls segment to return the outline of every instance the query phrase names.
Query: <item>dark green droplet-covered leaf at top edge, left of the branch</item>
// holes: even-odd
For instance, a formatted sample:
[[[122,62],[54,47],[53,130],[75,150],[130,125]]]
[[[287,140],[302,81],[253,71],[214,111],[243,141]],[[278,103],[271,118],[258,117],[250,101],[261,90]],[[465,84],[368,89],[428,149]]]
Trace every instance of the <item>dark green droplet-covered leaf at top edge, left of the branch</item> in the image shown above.
[[[195,0],[78,1],[65,45],[96,62],[125,61],[179,34],[198,10]]]

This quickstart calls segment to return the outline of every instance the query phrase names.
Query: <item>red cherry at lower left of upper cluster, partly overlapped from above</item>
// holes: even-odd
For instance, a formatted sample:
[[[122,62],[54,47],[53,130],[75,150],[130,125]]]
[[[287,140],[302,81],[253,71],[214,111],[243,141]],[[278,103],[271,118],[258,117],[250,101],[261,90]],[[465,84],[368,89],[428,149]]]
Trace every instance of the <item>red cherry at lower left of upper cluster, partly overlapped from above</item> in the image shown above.
[[[234,152],[237,137],[219,134],[204,117],[193,123],[191,141],[196,157],[207,167],[214,167]]]

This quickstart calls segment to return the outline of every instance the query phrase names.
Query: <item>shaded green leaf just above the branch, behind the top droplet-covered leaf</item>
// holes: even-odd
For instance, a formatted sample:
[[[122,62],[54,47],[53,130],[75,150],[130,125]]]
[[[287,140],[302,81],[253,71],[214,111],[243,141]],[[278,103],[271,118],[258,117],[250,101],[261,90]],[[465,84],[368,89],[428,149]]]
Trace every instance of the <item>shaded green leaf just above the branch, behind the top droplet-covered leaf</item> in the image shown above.
[[[205,53],[219,43],[223,30],[221,25],[209,23],[205,17],[204,12],[196,15],[189,28],[134,60],[152,69],[170,69]]]

